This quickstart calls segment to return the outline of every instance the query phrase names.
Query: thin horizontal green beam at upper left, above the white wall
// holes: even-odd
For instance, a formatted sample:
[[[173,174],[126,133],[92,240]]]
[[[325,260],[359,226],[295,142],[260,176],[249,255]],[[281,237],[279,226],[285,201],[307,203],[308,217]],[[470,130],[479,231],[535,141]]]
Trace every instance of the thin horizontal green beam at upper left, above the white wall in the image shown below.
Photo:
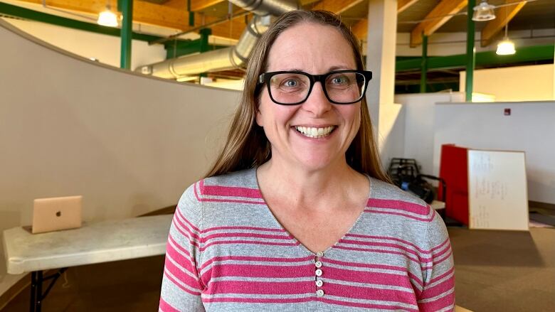
[[[56,15],[46,14],[43,12],[33,11],[21,6],[12,6],[11,4],[4,4],[0,2],[0,16],[11,16],[16,18],[23,18],[31,21],[39,21],[42,23],[49,23],[52,25],[78,29],[80,31],[90,31],[92,33],[101,33],[108,36],[120,36],[119,28],[112,28],[107,26],[100,26],[96,23],[86,23],[83,21],[75,21],[70,18],[64,18]],[[132,33],[132,38],[139,41],[155,41],[160,39],[158,36],[144,35],[142,33]]]

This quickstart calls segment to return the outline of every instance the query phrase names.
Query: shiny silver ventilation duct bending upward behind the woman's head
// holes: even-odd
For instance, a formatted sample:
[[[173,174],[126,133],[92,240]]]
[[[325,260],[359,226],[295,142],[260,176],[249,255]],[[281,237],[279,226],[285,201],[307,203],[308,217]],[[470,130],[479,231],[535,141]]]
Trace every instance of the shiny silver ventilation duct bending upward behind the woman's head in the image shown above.
[[[164,60],[152,65],[143,65],[137,71],[145,75],[176,79],[201,72],[217,72],[243,68],[258,38],[270,26],[270,15],[279,16],[287,11],[297,9],[296,5],[287,1],[276,0],[231,0],[233,4],[256,14],[241,34],[237,45],[229,48],[213,50],[196,55],[185,55],[181,58]]]

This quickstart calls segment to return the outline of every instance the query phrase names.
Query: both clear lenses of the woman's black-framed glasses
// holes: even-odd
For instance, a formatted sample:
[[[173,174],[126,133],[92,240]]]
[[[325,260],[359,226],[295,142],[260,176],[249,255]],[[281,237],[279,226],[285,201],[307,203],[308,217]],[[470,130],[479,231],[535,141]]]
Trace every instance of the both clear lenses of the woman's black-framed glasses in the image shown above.
[[[364,91],[364,75],[359,72],[335,72],[328,75],[322,87],[329,99],[337,103],[355,102]],[[274,75],[270,79],[270,93],[282,104],[295,104],[307,99],[310,92],[310,78],[301,73],[288,72]]]

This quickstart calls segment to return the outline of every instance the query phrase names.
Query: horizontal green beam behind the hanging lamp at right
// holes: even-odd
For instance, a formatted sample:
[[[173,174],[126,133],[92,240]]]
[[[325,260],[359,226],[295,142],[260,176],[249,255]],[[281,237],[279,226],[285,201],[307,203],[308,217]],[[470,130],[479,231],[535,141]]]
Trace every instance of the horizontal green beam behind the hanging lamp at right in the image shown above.
[[[483,65],[506,65],[512,63],[534,62],[538,60],[553,60],[555,45],[532,45],[517,47],[514,55],[497,55],[495,51],[476,53],[476,66]],[[404,59],[396,61],[395,71],[417,71],[421,70],[421,58]],[[453,68],[465,68],[466,55],[448,55],[428,57],[428,70],[442,70]]]

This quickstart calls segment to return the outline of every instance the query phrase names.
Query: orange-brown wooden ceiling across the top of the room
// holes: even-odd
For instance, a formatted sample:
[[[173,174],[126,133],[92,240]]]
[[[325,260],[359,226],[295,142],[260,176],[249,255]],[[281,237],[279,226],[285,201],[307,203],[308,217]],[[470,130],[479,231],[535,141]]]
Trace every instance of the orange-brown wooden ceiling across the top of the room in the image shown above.
[[[135,23],[149,24],[176,31],[189,31],[211,23],[212,35],[221,38],[238,39],[243,32],[250,16],[237,6],[231,6],[227,0],[190,0],[190,10],[194,12],[194,25],[189,25],[189,0],[135,0],[133,20]],[[20,0],[20,2],[43,4],[43,0]],[[480,1],[477,0],[477,3]],[[464,14],[467,0],[398,0],[398,31],[411,33],[411,45],[418,46],[422,42],[421,34],[432,35],[436,31],[461,31],[466,28]],[[519,14],[527,14],[527,21],[534,27],[534,21],[543,26],[555,28],[555,0],[490,0],[490,4],[504,5],[496,9],[497,18],[488,22],[477,23],[482,32],[482,45],[489,45],[492,39],[502,31],[504,26],[517,18]],[[45,4],[52,8],[74,11],[82,14],[98,14],[106,4],[117,7],[117,0],[46,0]],[[304,9],[324,9],[342,15],[343,20],[351,26],[357,37],[366,40],[368,23],[368,0],[301,0]],[[543,9],[538,9],[543,8]],[[526,15],[526,14],[524,14]],[[458,21],[456,25],[450,21]],[[551,25],[551,26],[549,26]],[[449,27],[444,27],[449,26]]]

